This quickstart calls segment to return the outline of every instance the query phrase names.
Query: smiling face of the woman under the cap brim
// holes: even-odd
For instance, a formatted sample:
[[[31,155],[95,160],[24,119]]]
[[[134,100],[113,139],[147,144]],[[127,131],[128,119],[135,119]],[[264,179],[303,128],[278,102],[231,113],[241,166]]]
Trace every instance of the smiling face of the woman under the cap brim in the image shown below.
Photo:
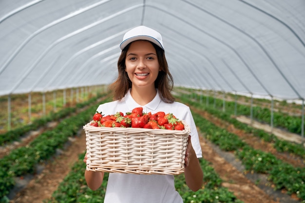
[[[125,65],[133,87],[154,88],[160,66],[152,43],[145,40],[132,42],[126,53]]]

